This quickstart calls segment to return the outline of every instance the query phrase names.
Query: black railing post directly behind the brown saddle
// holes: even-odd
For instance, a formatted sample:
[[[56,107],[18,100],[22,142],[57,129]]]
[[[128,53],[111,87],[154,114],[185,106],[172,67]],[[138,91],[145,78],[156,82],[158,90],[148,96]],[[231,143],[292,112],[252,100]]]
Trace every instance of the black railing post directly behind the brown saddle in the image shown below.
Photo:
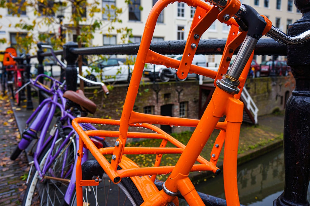
[[[78,59],[78,54],[73,54],[70,50],[72,48],[78,48],[78,44],[75,42],[67,42],[64,44],[64,59],[67,61],[67,68],[65,71],[67,90],[77,90],[78,71],[75,65]]]

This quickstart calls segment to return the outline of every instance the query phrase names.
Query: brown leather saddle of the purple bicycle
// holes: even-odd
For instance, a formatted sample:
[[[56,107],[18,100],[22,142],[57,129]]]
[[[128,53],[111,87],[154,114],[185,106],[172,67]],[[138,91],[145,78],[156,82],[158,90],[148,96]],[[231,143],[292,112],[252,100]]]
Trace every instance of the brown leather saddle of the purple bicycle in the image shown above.
[[[94,102],[89,100],[84,95],[84,92],[81,89],[77,90],[76,92],[74,92],[72,90],[67,90],[64,92],[63,97],[77,103],[78,105],[80,105],[82,110],[85,109],[89,113],[95,114],[97,106],[95,105]]]

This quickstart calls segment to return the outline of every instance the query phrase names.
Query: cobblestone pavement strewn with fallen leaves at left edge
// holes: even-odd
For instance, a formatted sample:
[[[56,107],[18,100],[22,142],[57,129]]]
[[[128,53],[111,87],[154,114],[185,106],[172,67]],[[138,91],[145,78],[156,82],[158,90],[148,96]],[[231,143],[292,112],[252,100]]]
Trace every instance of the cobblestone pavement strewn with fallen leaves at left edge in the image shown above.
[[[11,153],[20,140],[20,133],[14,118],[8,96],[0,96],[0,205],[20,205],[28,176],[28,161],[24,152],[12,161]]]

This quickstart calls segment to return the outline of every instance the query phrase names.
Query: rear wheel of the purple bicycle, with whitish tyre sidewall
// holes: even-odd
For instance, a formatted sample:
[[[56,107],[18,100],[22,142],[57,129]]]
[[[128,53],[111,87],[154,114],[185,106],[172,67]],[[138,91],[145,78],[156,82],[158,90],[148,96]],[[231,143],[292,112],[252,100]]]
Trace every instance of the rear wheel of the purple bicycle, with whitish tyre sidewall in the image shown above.
[[[71,129],[65,129],[64,133],[68,137]],[[51,148],[51,143],[47,145],[45,150],[39,157],[40,168],[47,161],[48,154],[55,154],[63,143],[64,139],[57,139],[55,146]],[[76,155],[75,138],[69,140],[68,144],[60,151],[55,161],[45,174],[45,177],[56,177],[69,180],[73,171],[73,165]],[[24,195],[23,205],[62,205],[64,203],[64,194],[66,193],[68,182],[61,180],[52,180],[43,178],[41,181],[38,171],[34,169],[33,175],[27,185]]]

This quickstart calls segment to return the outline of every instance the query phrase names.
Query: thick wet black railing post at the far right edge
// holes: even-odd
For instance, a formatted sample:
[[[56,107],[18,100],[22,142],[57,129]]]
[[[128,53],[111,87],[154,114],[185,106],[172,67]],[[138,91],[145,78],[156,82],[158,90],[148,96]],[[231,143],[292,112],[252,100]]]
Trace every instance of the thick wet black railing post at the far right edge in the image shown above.
[[[309,1],[294,0],[302,19],[289,25],[288,34],[296,35],[310,28]],[[274,201],[277,206],[308,206],[310,178],[310,43],[288,46],[287,64],[291,66],[296,87],[287,101],[284,121],[285,186]]]

